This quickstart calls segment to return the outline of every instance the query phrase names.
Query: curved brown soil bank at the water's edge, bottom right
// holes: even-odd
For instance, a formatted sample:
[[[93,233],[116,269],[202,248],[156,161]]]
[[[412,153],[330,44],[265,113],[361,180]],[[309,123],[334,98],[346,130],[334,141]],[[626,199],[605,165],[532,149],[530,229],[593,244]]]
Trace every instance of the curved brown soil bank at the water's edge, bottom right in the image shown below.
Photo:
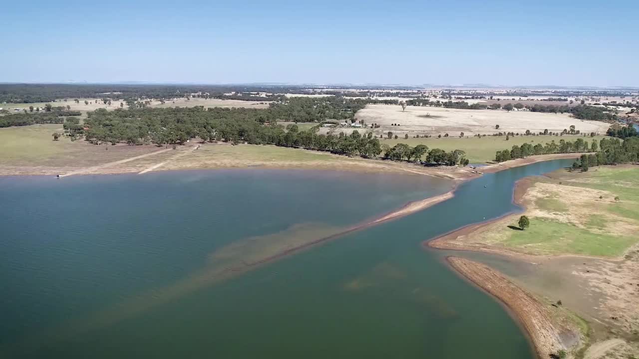
[[[447,261],[466,279],[498,298],[516,314],[532,339],[539,358],[548,358],[564,348],[558,335],[562,329],[556,326],[548,309],[532,294],[484,264],[459,257],[447,257]]]

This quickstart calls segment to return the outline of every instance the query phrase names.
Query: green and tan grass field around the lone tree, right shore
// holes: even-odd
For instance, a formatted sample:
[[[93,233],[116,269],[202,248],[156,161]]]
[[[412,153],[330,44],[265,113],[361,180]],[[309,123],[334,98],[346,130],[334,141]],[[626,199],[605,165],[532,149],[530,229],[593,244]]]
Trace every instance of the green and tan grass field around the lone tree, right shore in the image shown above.
[[[563,195],[550,193],[548,197],[537,198],[535,207],[562,216],[555,218],[566,218],[567,215],[567,221],[531,216],[530,227],[525,231],[502,223],[481,234],[482,237],[535,254],[602,257],[621,256],[639,241],[636,235],[639,229],[639,166],[594,167],[586,173],[566,174],[561,183],[556,188]],[[574,192],[574,187],[584,191]],[[598,191],[608,194],[599,198],[603,192]],[[569,197],[575,193],[579,199]],[[617,196],[619,201],[615,201]],[[574,206],[574,201],[582,202]],[[511,225],[516,226],[514,220]]]

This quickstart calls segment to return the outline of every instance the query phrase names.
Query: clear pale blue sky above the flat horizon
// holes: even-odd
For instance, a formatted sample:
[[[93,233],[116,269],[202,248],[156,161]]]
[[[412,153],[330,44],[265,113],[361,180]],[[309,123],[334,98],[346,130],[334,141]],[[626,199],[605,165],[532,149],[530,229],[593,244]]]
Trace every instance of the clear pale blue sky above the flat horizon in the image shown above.
[[[639,86],[638,0],[8,1],[0,82]]]

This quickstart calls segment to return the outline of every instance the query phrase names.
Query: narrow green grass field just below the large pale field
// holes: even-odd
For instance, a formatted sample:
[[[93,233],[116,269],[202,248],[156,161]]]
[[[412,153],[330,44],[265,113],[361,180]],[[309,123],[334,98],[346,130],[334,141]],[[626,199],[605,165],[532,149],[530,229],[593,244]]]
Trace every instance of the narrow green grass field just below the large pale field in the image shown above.
[[[441,148],[446,151],[452,151],[454,149],[462,149],[466,151],[466,158],[471,163],[491,162],[495,160],[495,152],[502,149],[511,149],[512,146],[528,142],[533,146],[537,143],[546,144],[546,142],[555,141],[559,142],[560,139],[566,141],[574,141],[578,138],[583,138],[587,141],[596,139],[599,142],[606,136],[595,137],[578,137],[578,136],[514,136],[506,141],[505,136],[486,136],[486,137],[447,137],[438,139],[436,137],[429,137],[427,139],[409,138],[409,139],[380,139],[381,143],[388,144],[389,146],[395,146],[398,143],[405,143],[409,146],[417,146],[418,144],[425,144],[429,148]]]

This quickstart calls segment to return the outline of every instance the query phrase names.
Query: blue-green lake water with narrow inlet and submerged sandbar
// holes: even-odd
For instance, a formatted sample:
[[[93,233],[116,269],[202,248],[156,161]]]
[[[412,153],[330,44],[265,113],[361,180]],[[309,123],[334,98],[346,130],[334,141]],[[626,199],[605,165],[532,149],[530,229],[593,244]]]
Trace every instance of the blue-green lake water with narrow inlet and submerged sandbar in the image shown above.
[[[503,307],[420,243],[516,210],[516,179],[571,162],[484,174],[234,275],[450,184],[259,169],[0,178],[0,357],[532,358]]]

